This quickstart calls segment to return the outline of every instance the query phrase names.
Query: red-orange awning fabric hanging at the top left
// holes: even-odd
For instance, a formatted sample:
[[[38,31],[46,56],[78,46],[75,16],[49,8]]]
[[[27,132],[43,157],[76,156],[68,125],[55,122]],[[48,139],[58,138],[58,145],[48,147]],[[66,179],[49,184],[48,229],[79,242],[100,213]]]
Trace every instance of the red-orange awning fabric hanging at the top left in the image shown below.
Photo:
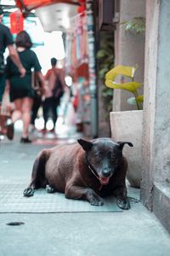
[[[15,3],[20,8],[24,17],[26,17],[32,9],[37,9],[54,3],[80,5],[78,0],[15,0]]]

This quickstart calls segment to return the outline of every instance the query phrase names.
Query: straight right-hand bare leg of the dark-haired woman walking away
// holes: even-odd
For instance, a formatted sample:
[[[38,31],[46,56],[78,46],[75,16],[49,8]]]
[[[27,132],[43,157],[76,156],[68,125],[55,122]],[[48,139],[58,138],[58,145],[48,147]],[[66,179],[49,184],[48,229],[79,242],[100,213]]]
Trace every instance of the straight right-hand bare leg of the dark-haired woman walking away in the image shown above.
[[[25,97],[22,100],[22,120],[23,120],[23,131],[22,138],[28,137],[28,127],[31,122],[31,108],[33,104],[33,99]]]

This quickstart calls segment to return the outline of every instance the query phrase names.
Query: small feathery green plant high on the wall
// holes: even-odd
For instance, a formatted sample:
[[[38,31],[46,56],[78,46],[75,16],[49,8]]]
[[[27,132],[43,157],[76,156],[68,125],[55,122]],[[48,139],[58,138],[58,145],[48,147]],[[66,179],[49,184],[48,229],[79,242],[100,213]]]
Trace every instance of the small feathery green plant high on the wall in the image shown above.
[[[136,32],[137,34],[145,32],[144,17],[134,17],[133,20],[123,21],[122,25],[125,26],[125,31]]]

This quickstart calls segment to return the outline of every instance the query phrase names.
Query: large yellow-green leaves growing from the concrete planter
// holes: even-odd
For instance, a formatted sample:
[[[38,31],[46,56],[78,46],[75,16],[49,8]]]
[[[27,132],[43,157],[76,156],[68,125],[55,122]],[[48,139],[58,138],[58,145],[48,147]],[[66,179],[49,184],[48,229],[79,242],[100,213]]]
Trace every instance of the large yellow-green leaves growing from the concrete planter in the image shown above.
[[[141,87],[141,83],[134,81],[134,74],[136,73],[137,67],[128,66],[116,66],[112,68],[108,73],[105,74],[105,85],[111,89],[127,90],[133,93],[133,97],[130,97],[127,102],[129,104],[136,104],[138,109],[141,109],[141,103],[144,101],[144,96],[139,95],[138,89]],[[130,79],[122,84],[116,83],[116,77],[121,75]]]

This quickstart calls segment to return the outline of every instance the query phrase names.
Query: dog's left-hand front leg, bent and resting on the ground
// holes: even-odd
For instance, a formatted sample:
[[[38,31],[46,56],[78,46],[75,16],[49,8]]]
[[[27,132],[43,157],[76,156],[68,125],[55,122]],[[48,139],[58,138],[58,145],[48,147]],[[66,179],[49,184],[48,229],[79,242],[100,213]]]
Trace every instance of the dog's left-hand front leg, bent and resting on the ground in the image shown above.
[[[93,189],[83,188],[73,184],[66,186],[65,197],[71,199],[84,199],[89,201],[92,206],[104,205],[102,198],[97,195]]]

